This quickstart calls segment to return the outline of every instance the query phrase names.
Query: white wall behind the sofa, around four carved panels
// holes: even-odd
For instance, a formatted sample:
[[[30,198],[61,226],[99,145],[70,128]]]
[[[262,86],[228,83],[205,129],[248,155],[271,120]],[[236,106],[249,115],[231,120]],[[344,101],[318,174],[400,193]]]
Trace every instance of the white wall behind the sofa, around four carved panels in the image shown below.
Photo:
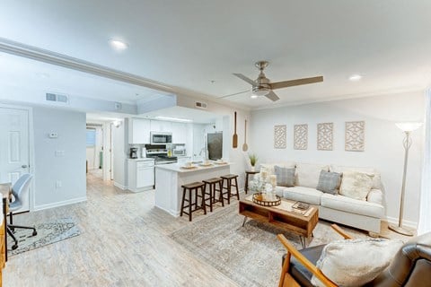
[[[251,148],[259,162],[303,161],[374,167],[382,172],[387,215],[396,220],[404,161],[403,133],[394,123],[423,121],[425,98],[410,92],[354,100],[337,100],[251,113]],[[365,120],[365,152],[344,150],[346,121]],[[317,124],[334,123],[334,150],[317,151]],[[294,125],[308,124],[308,150],[293,149]],[[287,126],[287,148],[274,149],[274,126]],[[409,153],[404,220],[418,222],[418,200],[423,155],[423,129],[412,133]]]

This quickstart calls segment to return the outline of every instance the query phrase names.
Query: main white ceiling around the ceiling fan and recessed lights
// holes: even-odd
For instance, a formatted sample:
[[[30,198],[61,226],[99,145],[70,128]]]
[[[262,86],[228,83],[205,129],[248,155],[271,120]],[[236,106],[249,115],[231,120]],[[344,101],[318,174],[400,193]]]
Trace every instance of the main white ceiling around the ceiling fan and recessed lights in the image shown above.
[[[249,93],[224,98],[261,108],[425,89],[429,19],[429,0],[4,0],[0,37],[214,97],[250,89],[232,73],[254,79],[261,59],[274,82],[324,76],[324,83],[277,90],[277,103]],[[129,48],[116,52],[109,39]],[[350,74],[364,78],[352,83]],[[76,88],[73,76],[55,80]],[[98,80],[83,89],[111,90]]]

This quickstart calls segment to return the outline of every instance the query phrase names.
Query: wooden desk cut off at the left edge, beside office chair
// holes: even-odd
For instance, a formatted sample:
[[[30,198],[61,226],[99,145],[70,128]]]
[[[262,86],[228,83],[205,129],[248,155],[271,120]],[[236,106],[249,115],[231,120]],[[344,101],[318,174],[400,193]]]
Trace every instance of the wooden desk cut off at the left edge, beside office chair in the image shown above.
[[[2,271],[7,261],[7,219],[6,215],[9,212],[9,199],[12,195],[11,184],[0,184],[0,193],[3,199],[3,222],[0,224],[0,287],[3,284]]]

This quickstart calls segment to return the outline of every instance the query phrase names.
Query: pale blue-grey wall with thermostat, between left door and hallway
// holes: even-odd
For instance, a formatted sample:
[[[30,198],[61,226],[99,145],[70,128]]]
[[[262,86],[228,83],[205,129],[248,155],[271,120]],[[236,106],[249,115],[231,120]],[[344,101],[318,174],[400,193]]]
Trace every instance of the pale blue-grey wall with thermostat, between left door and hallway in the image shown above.
[[[86,200],[85,114],[34,107],[33,125],[35,209]],[[58,137],[48,138],[52,132]],[[57,181],[62,187],[56,187]]]

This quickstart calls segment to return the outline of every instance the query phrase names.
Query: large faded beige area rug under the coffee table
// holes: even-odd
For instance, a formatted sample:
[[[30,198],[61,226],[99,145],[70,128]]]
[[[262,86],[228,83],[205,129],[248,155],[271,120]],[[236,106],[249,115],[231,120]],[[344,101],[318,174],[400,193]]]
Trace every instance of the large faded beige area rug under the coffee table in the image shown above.
[[[240,286],[277,286],[281,257],[286,253],[277,239],[278,233],[283,233],[296,248],[302,248],[298,236],[268,223],[249,219],[242,227],[238,203],[203,216],[202,220],[173,232],[172,239]],[[364,232],[343,229],[355,238],[367,237]],[[329,222],[319,222],[313,234],[307,246],[342,239]]]

